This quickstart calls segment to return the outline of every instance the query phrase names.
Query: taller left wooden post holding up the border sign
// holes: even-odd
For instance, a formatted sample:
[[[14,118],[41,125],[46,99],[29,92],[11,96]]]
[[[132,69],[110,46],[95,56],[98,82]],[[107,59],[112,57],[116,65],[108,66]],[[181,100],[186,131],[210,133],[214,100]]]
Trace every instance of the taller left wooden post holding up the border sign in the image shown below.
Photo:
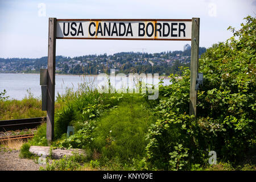
[[[48,76],[47,76],[47,129],[48,145],[54,137],[54,102],[55,102],[55,53],[56,53],[56,18],[49,18],[48,35]]]

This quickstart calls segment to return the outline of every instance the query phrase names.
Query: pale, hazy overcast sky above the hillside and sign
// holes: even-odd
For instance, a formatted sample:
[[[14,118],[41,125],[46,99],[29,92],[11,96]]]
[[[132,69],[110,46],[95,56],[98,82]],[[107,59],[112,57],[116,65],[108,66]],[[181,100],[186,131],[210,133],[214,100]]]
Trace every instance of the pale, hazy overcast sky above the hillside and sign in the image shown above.
[[[210,47],[232,36],[247,15],[255,16],[255,0],[0,0],[0,57],[47,56],[48,18],[191,19],[200,18],[200,47]],[[186,41],[60,40],[56,55],[81,56],[122,51],[183,50]]]

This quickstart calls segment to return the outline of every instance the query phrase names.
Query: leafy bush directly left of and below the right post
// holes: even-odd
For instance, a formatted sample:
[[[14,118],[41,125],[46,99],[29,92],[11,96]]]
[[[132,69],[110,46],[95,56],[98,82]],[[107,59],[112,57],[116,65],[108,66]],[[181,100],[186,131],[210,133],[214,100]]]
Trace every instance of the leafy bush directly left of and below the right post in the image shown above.
[[[195,137],[197,125],[189,111],[189,69],[183,70],[182,79],[170,75],[171,85],[160,86],[163,96],[155,107],[157,121],[147,134],[147,156],[151,167],[159,169],[184,169],[190,157],[198,156]]]

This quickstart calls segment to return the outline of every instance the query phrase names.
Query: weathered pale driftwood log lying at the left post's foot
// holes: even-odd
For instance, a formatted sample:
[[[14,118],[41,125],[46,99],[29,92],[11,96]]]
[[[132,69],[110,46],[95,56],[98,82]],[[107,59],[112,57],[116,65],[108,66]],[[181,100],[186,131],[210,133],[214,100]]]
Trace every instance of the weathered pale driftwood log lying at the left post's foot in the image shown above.
[[[48,146],[31,146],[30,147],[30,152],[34,155],[38,155],[38,156],[50,156],[53,159],[61,159],[64,156],[72,156],[73,154],[79,154],[79,155],[85,155],[84,150],[82,149],[78,149],[78,148],[74,148],[74,149],[70,149],[67,150],[66,148],[56,148],[56,147],[52,147],[51,150],[51,154],[50,154],[50,148]]]

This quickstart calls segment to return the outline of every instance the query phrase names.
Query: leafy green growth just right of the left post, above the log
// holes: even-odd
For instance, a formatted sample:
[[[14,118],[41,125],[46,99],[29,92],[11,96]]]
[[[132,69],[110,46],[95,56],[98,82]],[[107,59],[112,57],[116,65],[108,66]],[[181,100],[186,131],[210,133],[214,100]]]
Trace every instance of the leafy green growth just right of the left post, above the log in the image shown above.
[[[72,104],[68,104],[56,116],[54,144],[58,147],[87,148],[93,139],[91,133],[96,118],[113,109],[121,98],[121,94],[100,94],[97,90],[76,92],[73,100],[68,101]],[[68,125],[75,127],[75,133],[69,138],[66,137]]]

